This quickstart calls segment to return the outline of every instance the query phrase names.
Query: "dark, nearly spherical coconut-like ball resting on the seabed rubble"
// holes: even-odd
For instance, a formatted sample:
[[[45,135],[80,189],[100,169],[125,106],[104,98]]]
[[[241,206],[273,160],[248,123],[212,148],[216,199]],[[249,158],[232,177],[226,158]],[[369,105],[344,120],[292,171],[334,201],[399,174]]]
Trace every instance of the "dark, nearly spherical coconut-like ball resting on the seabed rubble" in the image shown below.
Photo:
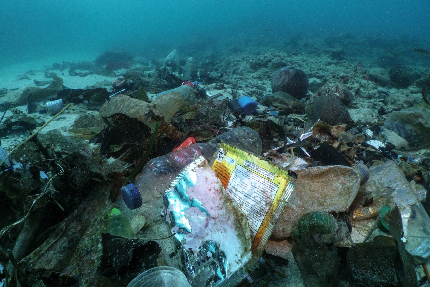
[[[309,79],[304,71],[284,67],[276,71],[272,78],[272,93],[282,91],[296,99],[303,99],[309,89]]]

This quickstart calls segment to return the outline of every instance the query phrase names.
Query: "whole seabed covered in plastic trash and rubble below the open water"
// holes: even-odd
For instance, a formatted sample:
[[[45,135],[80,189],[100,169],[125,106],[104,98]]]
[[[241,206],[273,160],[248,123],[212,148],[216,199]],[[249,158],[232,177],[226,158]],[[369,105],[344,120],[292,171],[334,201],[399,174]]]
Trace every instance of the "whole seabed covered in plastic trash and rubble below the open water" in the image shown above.
[[[34,85],[0,90],[4,286],[425,284],[429,74],[327,55],[336,71],[113,49],[18,76]]]

